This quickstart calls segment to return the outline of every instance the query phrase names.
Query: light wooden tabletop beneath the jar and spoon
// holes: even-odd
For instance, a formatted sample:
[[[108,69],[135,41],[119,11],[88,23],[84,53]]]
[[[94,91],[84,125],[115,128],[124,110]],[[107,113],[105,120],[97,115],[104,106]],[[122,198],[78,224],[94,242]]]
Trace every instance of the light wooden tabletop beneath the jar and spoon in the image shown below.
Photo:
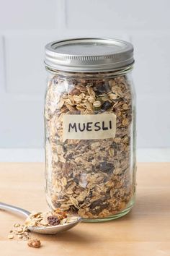
[[[48,210],[43,163],[0,163],[0,201],[27,210]],[[9,240],[22,218],[0,211],[1,256],[165,256],[170,255],[170,163],[138,163],[133,210],[115,221],[80,223],[58,235],[36,235],[42,247]]]

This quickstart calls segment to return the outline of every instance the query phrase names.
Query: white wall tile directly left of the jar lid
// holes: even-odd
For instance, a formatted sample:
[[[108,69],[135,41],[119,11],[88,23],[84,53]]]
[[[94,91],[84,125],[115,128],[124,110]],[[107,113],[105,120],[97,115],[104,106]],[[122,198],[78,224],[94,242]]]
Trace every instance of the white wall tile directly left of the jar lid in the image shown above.
[[[42,69],[42,52],[47,41],[45,39],[44,35],[22,35],[22,33],[5,36],[6,93],[15,95],[44,93],[45,70]]]

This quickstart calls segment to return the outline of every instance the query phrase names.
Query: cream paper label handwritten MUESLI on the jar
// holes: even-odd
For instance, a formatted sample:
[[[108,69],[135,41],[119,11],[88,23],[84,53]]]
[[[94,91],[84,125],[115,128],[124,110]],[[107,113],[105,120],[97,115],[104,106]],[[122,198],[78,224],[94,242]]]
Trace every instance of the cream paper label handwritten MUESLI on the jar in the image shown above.
[[[108,139],[115,133],[115,114],[63,116],[63,141]]]

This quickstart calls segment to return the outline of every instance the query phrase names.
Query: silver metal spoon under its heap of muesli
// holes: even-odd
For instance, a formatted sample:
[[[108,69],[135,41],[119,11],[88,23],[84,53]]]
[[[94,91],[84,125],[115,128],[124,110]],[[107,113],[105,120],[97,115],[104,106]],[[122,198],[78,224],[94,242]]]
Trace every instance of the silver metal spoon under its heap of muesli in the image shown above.
[[[22,208],[18,208],[13,205],[6,205],[4,202],[0,202],[0,209],[7,210],[11,213],[17,213],[17,215],[28,217],[30,216],[30,212],[28,210],[24,210]],[[76,221],[71,223],[64,223],[62,225],[57,226],[45,226],[45,227],[34,227],[29,226],[28,229],[32,232],[40,233],[40,234],[57,234],[59,232],[66,231],[68,229],[72,229],[73,226],[76,226],[81,221],[81,217],[78,217]]]

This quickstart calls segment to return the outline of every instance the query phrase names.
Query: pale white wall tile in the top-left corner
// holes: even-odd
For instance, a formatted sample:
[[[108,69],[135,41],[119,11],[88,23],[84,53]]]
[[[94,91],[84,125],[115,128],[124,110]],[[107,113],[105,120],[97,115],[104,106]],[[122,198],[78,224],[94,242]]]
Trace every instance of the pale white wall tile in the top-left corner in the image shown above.
[[[55,0],[1,0],[1,30],[35,30],[56,28]]]

